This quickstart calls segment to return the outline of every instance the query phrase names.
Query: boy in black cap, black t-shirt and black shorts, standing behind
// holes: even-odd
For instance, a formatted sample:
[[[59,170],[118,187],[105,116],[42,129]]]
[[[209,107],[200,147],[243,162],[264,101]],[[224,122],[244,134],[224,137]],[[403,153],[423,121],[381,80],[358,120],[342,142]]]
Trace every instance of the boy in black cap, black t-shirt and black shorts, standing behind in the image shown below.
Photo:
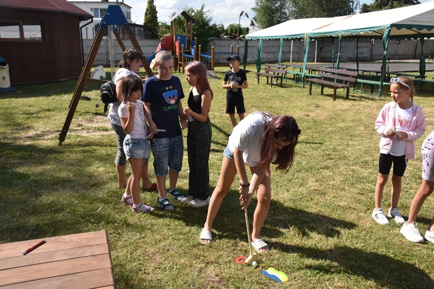
[[[238,54],[233,54],[226,60],[229,61],[231,70],[225,73],[222,88],[227,90],[226,113],[229,113],[232,125],[235,127],[237,124],[235,119],[235,107],[240,121],[244,119],[244,113],[246,112],[241,89],[247,89],[247,76],[246,72],[239,68],[241,59]]]

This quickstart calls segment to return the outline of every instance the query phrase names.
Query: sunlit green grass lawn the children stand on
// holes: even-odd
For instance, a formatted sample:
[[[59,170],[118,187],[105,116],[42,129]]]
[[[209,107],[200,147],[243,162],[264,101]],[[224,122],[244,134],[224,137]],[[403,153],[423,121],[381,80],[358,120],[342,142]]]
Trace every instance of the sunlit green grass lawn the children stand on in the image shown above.
[[[210,81],[210,192],[232,131],[221,88],[227,69],[217,67],[219,79]],[[253,65],[247,69],[255,71]],[[427,75],[434,77],[433,72]],[[189,86],[179,76],[187,93]],[[98,84],[86,84],[83,95],[92,101],[79,101],[58,146],[76,79],[15,86],[18,92],[0,94],[0,242],[105,229],[117,288],[274,288],[277,282],[261,274],[269,267],[288,274],[282,288],[434,288],[434,244],[411,243],[395,222],[381,226],[371,218],[379,155],[374,121],[391,100],[388,92],[381,99],[351,92],[346,100],[339,90],[334,102],[330,88],[320,95],[314,87],[309,96],[308,88],[292,81],[270,88],[265,78],[258,84],[254,73],[247,76],[247,113],[290,114],[302,130],[292,169],[272,172],[272,201],[261,232],[271,249],[258,257],[257,268],[234,262],[249,254],[237,178],[215,219],[209,246],[198,240],[207,208],[174,202],[174,212],[133,214],[120,202],[115,133],[102,106],[95,107]],[[402,181],[399,208],[405,219],[421,183],[420,147],[434,129],[432,94],[417,93],[415,102],[424,109],[426,132],[416,141],[416,159],[409,161]],[[184,150],[178,187],[186,194],[185,139]],[[385,210],[390,189],[389,181]],[[156,199],[154,192],[142,193],[145,204],[158,207]],[[255,206],[256,198],[251,222]],[[433,208],[431,196],[417,220],[421,232]]]

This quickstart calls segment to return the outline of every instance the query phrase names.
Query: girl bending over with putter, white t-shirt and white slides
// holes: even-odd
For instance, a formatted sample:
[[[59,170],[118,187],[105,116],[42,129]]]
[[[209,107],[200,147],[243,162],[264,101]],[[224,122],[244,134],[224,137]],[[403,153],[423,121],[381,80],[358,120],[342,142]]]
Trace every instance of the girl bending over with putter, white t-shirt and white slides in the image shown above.
[[[260,253],[268,250],[268,245],[259,236],[270,204],[270,164],[277,164],[276,169],[285,172],[291,168],[300,133],[293,117],[275,117],[268,112],[254,112],[234,127],[228,146],[223,152],[219,182],[212,193],[206,222],[200,235],[202,244],[211,243],[212,223],[238,172],[241,209],[250,205],[255,192],[258,197],[253,218],[252,245]],[[250,167],[253,175],[250,182],[245,165]]]

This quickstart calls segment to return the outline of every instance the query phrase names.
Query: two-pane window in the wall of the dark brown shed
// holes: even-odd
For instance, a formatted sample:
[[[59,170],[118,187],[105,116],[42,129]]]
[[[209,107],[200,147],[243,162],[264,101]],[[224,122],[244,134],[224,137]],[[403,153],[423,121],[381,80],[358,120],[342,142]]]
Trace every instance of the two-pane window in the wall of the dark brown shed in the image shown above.
[[[43,41],[42,22],[0,21],[0,39]]]

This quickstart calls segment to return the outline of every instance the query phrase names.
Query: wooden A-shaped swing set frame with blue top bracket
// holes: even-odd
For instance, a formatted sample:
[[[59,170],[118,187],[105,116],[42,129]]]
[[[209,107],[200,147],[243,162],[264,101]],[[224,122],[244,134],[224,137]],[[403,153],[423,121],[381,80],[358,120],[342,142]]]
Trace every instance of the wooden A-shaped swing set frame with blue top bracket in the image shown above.
[[[102,38],[104,37],[105,32],[107,31],[107,25],[113,25],[113,34],[116,37],[116,40],[119,43],[119,46],[121,47],[122,51],[125,51],[125,45],[122,42],[121,37],[119,36],[118,32],[116,31],[115,25],[122,25],[124,27],[125,32],[128,35],[129,41],[131,42],[132,46],[139,50],[142,53],[142,65],[145,68],[145,71],[148,75],[148,77],[151,77],[154,75],[152,72],[152,69],[149,67],[148,62],[146,61],[146,57],[140,48],[139,42],[137,42],[137,39],[134,36],[134,33],[131,31],[131,27],[129,26],[129,23],[127,19],[125,18],[125,15],[123,14],[121,7],[118,5],[108,5],[107,10],[105,11],[104,16],[101,19],[101,23],[98,26],[98,32],[93,40],[92,46],[90,48],[88,57],[86,59],[85,65],[82,69],[82,72],[80,73],[80,76],[78,78],[77,85],[75,86],[74,94],[72,95],[71,102],[69,103],[69,111],[68,115],[66,116],[65,123],[63,125],[63,128],[60,132],[59,136],[59,145],[62,146],[62,142],[65,141],[66,134],[68,133],[69,127],[71,125],[72,118],[74,117],[75,110],[78,105],[78,101],[80,100],[80,97],[82,96],[83,90],[85,88],[86,82],[94,81],[94,82],[105,82],[104,80],[97,80],[97,79],[90,79],[89,73],[91,71],[92,65],[95,61],[96,54],[98,53],[98,48],[101,45]],[[111,51],[112,52],[112,51]]]

